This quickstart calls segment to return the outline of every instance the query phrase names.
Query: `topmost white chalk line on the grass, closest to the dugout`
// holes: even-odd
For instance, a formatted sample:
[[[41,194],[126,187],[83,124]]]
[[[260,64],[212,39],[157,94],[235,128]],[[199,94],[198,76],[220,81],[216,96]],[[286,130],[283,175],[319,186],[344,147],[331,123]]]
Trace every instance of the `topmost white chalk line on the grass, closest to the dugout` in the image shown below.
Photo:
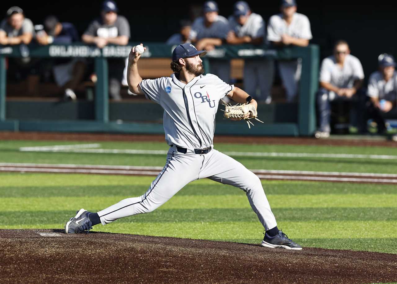
[[[132,155],[166,155],[166,150],[140,149],[96,149],[100,144],[55,145],[40,147],[20,147],[21,152],[62,152],[62,153],[96,153],[96,154],[132,154]],[[95,149],[94,149],[95,148]],[[278,153],[278,152],[223,152],[229,156],[249,157],[294,157],[294,158],[347,158],[397,160],[396,155],[361,155],[333,153]]]

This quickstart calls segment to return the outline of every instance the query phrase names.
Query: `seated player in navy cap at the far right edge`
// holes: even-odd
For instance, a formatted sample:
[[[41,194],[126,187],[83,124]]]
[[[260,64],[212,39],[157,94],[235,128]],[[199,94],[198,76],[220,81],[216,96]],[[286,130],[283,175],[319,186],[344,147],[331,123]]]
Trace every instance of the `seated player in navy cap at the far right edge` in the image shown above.
[[[397,72],[393,56],[386,53],[378,57],[378,66],[379,71],[372,73],[368,81],[364,125],[368,118],[372,118],[378,125],[378,133],[382,134],[386,131],[385,118],[397,118]]]

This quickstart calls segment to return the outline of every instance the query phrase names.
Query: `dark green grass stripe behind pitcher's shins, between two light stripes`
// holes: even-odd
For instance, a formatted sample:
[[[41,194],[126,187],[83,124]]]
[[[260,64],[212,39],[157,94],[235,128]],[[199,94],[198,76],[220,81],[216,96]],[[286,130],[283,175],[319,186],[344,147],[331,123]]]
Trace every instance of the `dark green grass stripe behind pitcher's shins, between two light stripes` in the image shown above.
[[[75,211],[0,211],[0,227],[6,225],[52,224],[66,222]],[[276,208],[273,210],[278,222],[284,221],[396,221],[396,207],[382,208]],[[121,218],[121,223],[150,222],[252,222],[257,219],[251,208],[236,209],[157,209],[148,214]]]

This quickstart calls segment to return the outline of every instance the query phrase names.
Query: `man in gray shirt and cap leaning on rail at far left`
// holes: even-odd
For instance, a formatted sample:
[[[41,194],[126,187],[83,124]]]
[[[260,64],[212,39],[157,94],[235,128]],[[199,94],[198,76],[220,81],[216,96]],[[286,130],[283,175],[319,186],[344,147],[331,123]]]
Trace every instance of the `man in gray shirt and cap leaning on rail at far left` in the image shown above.
[[[0,23],[0,44],[29,44],[34,31],[32,21],[25,18],[23,10],[13,6],[7,10],[7,18]]]

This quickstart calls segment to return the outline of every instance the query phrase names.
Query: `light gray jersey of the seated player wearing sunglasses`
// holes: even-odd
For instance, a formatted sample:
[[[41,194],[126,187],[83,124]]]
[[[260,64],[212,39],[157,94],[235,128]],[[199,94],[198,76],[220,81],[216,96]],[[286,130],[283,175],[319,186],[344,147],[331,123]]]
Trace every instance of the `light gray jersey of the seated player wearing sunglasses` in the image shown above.
[[[336,63],[333,55],[322,61],[320,82],[330,83],[338,88],[351,88],[358,79],[364,79],[364,71],[357,57],[347,54],[343,67]]]

